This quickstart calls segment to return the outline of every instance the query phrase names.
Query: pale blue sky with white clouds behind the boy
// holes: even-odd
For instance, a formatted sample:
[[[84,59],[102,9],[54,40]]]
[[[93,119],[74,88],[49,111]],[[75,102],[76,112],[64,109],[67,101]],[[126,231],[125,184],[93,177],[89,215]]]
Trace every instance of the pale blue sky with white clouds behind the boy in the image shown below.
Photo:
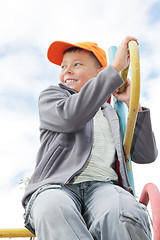
[[[97,42],[108,51],[126,35],[139,39],[141,104],[151,109],[160,148],[160,3],[157,0],[5,0],[0,8],[0,199],[1,227],[23,226],[18,183],[31,175],[39,147],[38,97],[58,83],[59,67],[47,60],[55,40]],[[159,186],[158,160],[134,165],[137,194]],[[14,215],[16,214],[16,219]],[[6,219],[6,220],[5,220]]]

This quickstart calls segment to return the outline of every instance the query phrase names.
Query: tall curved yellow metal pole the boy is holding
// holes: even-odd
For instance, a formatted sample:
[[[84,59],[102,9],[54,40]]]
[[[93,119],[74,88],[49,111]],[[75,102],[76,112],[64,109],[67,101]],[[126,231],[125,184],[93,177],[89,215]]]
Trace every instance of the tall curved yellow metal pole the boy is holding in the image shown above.
[[[130,90],[130,104],[126,131],[124,135],[123,147],[127,168],[130,169],[129,154],[132,144],[134,127],[137,119],[139,95],[140,95],[140,64],[139,64],[139,50],[135,41],[129,42],[130,62],[131,62],[131,90]]]

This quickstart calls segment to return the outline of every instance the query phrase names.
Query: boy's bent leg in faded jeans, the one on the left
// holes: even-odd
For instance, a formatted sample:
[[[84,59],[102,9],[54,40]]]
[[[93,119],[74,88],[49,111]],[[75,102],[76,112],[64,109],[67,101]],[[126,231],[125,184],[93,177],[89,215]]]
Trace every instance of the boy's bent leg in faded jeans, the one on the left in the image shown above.
[[[49,189],[37,196],[30,223],[38,240],[93,240],[81,216],[80,203],[63,189]]]

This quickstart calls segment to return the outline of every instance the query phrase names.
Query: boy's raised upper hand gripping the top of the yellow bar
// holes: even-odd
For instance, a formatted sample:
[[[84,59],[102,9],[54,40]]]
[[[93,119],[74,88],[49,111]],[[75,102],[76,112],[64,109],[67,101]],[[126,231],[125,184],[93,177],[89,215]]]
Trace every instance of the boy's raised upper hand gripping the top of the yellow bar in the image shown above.
[[[125,69],[130,63],[130,55],[128,51],[128,43],[130,41],[136,41],[138,44],[135,37],[127,36],[117,48],[116,55],[112,63],[112,66],[117,70],[117,72]]]

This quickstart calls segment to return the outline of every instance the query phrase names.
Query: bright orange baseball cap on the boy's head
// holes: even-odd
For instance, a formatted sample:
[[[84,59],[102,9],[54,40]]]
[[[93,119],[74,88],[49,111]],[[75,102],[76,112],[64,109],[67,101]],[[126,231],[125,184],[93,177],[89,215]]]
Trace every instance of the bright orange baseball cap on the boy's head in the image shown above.
[[[80,42],[71,44],[62,41],[55,41],[48,48],[47,56],[49,61],[54,64],[61,65],[64,51],[72,47],[78,47],[92,52],[101,63],[102,67],[107,66],[105,51],[102,48],[98,47],[97,43],[93,42]]]

